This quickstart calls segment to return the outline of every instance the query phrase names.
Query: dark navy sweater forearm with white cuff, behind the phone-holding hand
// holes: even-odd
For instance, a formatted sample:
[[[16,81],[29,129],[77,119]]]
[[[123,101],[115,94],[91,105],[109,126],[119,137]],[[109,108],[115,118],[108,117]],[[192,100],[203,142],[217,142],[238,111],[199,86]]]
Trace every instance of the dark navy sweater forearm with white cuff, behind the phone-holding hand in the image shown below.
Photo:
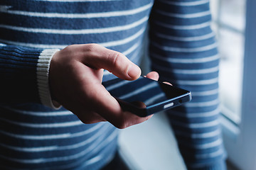
[[[0,103],[54,106],[48,86],[50,60],[57,50],[0,45]]]

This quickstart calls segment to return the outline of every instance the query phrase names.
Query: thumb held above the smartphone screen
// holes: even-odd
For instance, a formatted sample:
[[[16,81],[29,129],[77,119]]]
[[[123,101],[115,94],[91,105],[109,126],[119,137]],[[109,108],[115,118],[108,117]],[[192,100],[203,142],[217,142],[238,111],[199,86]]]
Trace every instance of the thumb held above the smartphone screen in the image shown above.
[[[87,64],[95,69],[107,69],[121,79],[134,80],[141,75],[141,69],[125,57],[121,52],[109,50],[101,45],[96,45],[94,55],[89,55]]]

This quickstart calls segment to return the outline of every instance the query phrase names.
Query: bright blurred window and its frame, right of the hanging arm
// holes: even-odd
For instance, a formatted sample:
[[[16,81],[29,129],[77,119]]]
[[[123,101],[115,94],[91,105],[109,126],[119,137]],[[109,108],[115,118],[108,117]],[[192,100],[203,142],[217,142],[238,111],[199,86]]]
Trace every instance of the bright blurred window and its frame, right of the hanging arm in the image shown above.
[[[220,52],[220,107],[230,169],[256,169],[254,0],[210,0]]]

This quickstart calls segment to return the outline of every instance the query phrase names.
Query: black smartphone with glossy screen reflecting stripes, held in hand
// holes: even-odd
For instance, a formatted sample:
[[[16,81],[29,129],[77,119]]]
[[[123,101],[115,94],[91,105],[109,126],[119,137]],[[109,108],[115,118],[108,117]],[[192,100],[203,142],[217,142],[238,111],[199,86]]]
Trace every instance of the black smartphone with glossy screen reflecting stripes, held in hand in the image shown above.
[[[134,81],[112,79],[102,82],[124,111],[145,117],[191,101],[191,92],[160,81],[139,77]]]

